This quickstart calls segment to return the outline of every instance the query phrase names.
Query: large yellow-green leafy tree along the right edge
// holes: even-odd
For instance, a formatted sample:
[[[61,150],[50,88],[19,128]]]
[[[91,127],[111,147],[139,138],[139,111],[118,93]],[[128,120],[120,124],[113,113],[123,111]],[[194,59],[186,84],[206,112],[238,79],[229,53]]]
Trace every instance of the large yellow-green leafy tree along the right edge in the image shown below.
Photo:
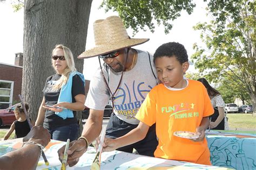
[[[255,102],[255,4],[253,1],[213,1],[208,3],[210,23],[199,23],[206,47],[194,44],[195,67],[214,82],[229,82]],[[225,81],[224,81],[225,80]],[[232,83],[232,84],[231,84]]]

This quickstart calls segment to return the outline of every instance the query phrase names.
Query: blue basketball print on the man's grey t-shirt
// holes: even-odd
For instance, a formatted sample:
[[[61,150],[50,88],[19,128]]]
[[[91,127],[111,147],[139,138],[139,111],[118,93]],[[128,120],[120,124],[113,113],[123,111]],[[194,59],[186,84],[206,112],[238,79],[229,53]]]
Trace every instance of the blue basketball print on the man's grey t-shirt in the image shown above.
[[[146,98],[147,93],[152,89],[145,82],[132,82],[132,89],[129,89],[126,83],[125,88],[118,88],[117,96],[114,101],[120,104],[114,104],[114,108],[119,115],[126,116],[127,119],[135,118],[135,115]]]

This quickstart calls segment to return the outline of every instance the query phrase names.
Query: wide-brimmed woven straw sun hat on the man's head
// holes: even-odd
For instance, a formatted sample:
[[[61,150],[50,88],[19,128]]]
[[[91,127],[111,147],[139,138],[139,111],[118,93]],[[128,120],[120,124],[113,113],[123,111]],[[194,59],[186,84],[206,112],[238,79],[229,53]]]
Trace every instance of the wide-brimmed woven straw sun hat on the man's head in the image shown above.
[[[122,48],[143,44],[149,39],[135,39],[128,36],[124,23],[118,16],[99,19],[93,23],[95,47],[86,50],[78,56],[79,59],[91,58]]]

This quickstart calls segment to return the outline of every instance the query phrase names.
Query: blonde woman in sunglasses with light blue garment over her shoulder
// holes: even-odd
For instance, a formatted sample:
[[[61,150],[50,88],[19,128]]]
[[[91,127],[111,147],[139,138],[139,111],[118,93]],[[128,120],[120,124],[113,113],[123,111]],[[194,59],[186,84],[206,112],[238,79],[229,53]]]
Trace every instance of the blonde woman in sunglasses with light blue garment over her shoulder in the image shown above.
[[[56,45],[51,61],[56,74],[46,80],[36,125],[48,129],[51,139],[72,141],[78,137],[76,111],[84,110],[84,76],[76,72],[72,52],[64,45]]]

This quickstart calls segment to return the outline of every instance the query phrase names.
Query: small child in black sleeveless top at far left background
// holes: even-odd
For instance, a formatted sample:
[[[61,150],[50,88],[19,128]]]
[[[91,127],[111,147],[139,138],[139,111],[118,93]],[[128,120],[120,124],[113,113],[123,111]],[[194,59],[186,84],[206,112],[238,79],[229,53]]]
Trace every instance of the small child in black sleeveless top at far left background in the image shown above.
[[[26,110],[29,109],[29,105],[26,103],[25,103],[25,107],[26,107]],[[4,140],[7,140],[14,130],[15,130],[16,138],[23,138],[26,136],[26,134],[30,132],[29,123],[26,120],[26,115],[22,107],[22,104],[17,105],[17,107],[14,110],[14,114],[17,120],[11,124],[11,128],[5,134]]]

